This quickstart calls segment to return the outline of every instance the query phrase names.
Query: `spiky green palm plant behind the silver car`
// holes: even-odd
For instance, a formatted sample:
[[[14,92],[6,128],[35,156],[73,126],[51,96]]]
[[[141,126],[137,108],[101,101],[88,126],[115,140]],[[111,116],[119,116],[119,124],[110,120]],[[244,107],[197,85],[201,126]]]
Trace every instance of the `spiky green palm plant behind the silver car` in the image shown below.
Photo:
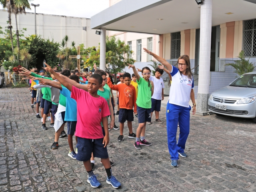
[[[234,63],[228,63],[225,66],[232,66],[235,68],[234,73],[238,74],[237,77],[252,72],[256,67],[252,62],[249,62],[249,59],[246,59],[244,56],[244,51],[241,51],[238,54],[240,60],[235,60]]]

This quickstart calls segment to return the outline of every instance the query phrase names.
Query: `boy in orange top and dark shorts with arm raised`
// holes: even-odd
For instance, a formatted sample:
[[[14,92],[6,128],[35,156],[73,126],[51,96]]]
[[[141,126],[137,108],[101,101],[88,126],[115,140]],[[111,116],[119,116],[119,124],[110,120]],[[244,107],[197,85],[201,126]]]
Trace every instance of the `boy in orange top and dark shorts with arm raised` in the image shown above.
[[[116,90],[119,92],[119,119],[120,122],[120,136],[117,139],[117,142],[122,142],[124,140],[123,131],[124,131],[124,122],[127,120],[127,125],[129,129],[128,138],[136,138],[136,134],[132,132],[132,121],[134,120],[133,113],[136,113],[137,105],[136,105],[136,89],[133,85],[131,85],[131,75],[129,73],[124,73],[124,83],[120,83],[118,85],[113,85],[109,75],[106,76],[108,78],[108,86],[112,90]],[[134,111],[133,111],[134,108]]]

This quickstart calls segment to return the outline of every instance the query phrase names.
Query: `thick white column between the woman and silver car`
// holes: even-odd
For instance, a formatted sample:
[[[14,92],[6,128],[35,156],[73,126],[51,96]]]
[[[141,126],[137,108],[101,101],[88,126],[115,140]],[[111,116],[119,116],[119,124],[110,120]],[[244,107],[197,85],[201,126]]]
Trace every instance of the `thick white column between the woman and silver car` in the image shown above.
[[[196,110],[198,114],[208,114],[210,85],[210,58],[212,35],[212,0],[204,0],[200,14],[200,53]]]

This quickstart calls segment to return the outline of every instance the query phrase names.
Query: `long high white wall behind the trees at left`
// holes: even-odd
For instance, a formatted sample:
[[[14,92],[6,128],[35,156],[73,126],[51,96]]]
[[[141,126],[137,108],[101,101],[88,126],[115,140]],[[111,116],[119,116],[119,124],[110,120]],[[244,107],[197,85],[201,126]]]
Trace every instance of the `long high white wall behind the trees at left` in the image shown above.
[[[18,30],[27,28],[24,32],[25,36],[35,34],[35,16],[34,13],[20,14],[17,16]],[[3,30],[8,24],[8,12],[6,10],[0,10],[0,26]],[[96,30],[90,29],[91,20],[88,18],[48,15],[48,14],[36,14],[36,32],[43,38],[54,39],[55,42],[60,42],[65,35],[68,35],[71,42],[78,44],[84,44],[85,48],[91,46],[98,46],[100,42],[100,36],[96,35]],[[86,31],[83,30],[86,27]],[[12,30],[16,32],[15,16],[12,14]]]

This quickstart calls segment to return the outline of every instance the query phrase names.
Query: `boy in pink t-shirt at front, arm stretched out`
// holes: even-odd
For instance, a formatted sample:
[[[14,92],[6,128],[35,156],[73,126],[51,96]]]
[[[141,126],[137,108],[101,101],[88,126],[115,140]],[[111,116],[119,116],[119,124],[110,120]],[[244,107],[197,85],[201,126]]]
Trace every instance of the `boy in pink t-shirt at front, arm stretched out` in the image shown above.
[[[113,188],[120,187],[120,182],[112,175],[106,148],[109,143],[107,116],[110,115],[110,111],[107,101],[97,94],[98,89],[102,86],[102,76],[93,74],[90,76],[88,84],[82,85],[73,80],[70,81],[69,78],[58,75],[48,64],[46,65],[46,70],[53,74],[63,86],[71,91],[71,98],[77,102],[75,135],[78,138],[78,154],[76,160],[84,162],[84,167],[88,173],[87,182],[90,183],[93,188],[97,188],[101,185],[92,171],[90,158],[93,153],[94,157],[101,158],[102,164],[105,167],[108,175],[106,183],[111,184]],[[90,110],[84,110],[85,108],[90,108]],[[103,136],[100,122],[103,124],[105,136]]]

